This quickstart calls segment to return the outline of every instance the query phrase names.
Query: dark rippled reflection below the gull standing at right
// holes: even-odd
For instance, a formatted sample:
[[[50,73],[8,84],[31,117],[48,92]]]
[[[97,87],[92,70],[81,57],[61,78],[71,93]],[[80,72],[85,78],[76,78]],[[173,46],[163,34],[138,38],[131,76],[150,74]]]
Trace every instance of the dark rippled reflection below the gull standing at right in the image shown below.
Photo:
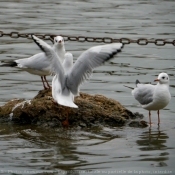
[[[140,159],[142,161],[156,161],[159,162],[160,166],[165,166],[166,163],[161,162],[168,160],[169,153],[165,152],[167,150],[166,142],[169,137],[166,133],[161,131],[159,127],[157,130],[153,130],[149,128],[148,131],[144,132],[140,139],[136,141],[136,143],[140,146],[139,149],[141,151],[146,152],[147,154],[142,154],[140,157],[146,157]],[[154,154],[152,153],[154,151]],[[155,156],[155,151],[156,155]],[[163,152],[162,152],[163,151]]]

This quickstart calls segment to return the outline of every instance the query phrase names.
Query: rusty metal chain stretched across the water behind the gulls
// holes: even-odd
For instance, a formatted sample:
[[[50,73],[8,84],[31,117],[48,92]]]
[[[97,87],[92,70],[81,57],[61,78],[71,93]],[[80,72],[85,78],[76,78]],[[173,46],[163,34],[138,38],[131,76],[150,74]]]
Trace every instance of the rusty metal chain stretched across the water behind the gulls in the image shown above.
[[[39,37],[43,40],[53,40],[53,37],[57,36],[55,34],[38,34],[38,33],[19,33],[19,32],[10,32],[10,33],[4,33],[3,31],[0,31],[0,37],[3,36],[10,36],[11,38],[28,38],[31,39],[31,34],[34,34],[35,36]],[[86,36],[67,36],[67,35],[60,35],[64,37],[65,41],[78,41],[78,42],[97,42],[97,43],[115,43],[120,42],[122,44],[131,44],[131,43],[137,43],[138,45],[147,45],[149,43],[153,43],[156,46],[164,46],[166,44],[172,44],[175,46],[175,39],[172,41],[169,41],[167,39],[146,39],[146,38],[139,38],[139,39],[129,39],[129,38],[119,38],[114,39],[110,37],[86,37]]]

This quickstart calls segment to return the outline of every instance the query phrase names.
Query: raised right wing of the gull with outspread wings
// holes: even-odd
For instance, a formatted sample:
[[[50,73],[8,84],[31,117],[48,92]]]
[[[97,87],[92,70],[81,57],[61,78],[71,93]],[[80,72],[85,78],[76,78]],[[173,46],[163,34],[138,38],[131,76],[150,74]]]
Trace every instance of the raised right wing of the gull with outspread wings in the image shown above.
[[[67,76],[67,86],[74,95],[78,94],[79,85],[87,80],[93,69],[111,59],[122,48],[121,43],[92,47],[83,52]]]

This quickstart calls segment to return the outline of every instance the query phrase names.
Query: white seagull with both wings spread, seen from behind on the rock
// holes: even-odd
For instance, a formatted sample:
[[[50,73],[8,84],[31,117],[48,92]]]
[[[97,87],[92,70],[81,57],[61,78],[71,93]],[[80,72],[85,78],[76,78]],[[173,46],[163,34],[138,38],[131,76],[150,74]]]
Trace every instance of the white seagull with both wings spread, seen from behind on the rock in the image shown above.
[[[63,64],[61,64],[59,56],[52,47],[34,35],[32,35],[32,38],[49,58],[53,72],[55,72],[52,80],[54,101],[72,108],[78,108],[74,103],[74,96],[79,95],[80,85],[89,79],[93,69],[111,59],[123,47],[122,43],[91,47],[84,51],[74,64],[72,54],[67,53]]]

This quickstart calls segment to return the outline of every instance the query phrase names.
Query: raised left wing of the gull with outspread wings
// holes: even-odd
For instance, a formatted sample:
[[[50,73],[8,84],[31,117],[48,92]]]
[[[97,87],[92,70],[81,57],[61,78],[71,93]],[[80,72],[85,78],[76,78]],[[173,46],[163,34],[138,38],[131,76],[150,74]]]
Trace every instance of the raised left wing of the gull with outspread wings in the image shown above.
[[[50,45],[48,45],[46,42],[39,39],[35,35],[32,35],[32,39],[39,46],[39,48],[46,54],[47,58],[50,60],[51,69],[52,69],[51,72],[56,73],[59,77],[59,80],[62,82],[61,84],[63,84],[64,76],[65,76],[64,69],[57,53],[53,50],[53,48]]]

